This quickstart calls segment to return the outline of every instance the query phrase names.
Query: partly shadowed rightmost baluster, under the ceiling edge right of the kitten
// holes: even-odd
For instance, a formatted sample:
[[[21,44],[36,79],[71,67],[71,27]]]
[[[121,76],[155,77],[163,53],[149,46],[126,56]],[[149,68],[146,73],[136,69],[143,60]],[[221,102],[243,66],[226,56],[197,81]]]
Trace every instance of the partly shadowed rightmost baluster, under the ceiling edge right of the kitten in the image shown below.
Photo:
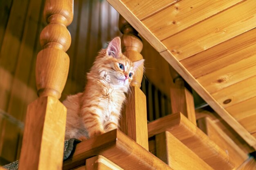
[[[172,113],[181,112],[196,125],[193,95],[185,87],[184,79],[170,66],[173,83],[171,85]]]

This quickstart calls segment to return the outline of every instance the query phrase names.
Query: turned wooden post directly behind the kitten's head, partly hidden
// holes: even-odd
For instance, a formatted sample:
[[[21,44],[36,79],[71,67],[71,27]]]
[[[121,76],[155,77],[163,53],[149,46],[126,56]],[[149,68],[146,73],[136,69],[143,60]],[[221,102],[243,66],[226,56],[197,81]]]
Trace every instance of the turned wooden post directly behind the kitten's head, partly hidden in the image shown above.
[[[140,54],[143,44],[138,32],[119,15],[119,29],[121,36],[122,51],[132,62],[143,59]],[[127,96],[120,121],[121,131],[148,150],[148,127],[146,112],[146,96],[139,89],[143,77],[144,66],[141,65],[132,80],[131,93]]]

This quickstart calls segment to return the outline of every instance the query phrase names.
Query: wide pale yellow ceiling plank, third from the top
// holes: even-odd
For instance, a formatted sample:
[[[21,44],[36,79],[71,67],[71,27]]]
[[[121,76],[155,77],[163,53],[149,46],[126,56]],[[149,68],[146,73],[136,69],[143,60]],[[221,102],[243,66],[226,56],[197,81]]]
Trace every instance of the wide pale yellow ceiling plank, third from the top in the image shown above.
[[[255,12],[255,0],[246,0],[162,42],[182,60],[254,29]]]

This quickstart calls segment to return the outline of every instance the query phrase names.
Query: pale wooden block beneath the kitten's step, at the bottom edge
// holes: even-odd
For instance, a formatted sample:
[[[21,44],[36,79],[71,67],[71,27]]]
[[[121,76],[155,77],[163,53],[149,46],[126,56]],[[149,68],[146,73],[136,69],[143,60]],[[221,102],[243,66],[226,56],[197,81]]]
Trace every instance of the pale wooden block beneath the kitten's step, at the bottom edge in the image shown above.
[[[86,170],[124,170],[102,155],[86,159],[85,166]]]

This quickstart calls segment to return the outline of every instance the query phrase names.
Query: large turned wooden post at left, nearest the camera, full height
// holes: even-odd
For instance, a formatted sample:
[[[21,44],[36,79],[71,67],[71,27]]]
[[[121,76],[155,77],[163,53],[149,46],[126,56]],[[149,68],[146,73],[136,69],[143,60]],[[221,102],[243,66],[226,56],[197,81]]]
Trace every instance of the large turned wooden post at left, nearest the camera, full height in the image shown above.
[[[39,98],[27,108],[19,170],[61,170],[66,108],[58,100],[67,81],[73,0],[46,0],[48,25],[40,34],[43,47],[36,59]]]

